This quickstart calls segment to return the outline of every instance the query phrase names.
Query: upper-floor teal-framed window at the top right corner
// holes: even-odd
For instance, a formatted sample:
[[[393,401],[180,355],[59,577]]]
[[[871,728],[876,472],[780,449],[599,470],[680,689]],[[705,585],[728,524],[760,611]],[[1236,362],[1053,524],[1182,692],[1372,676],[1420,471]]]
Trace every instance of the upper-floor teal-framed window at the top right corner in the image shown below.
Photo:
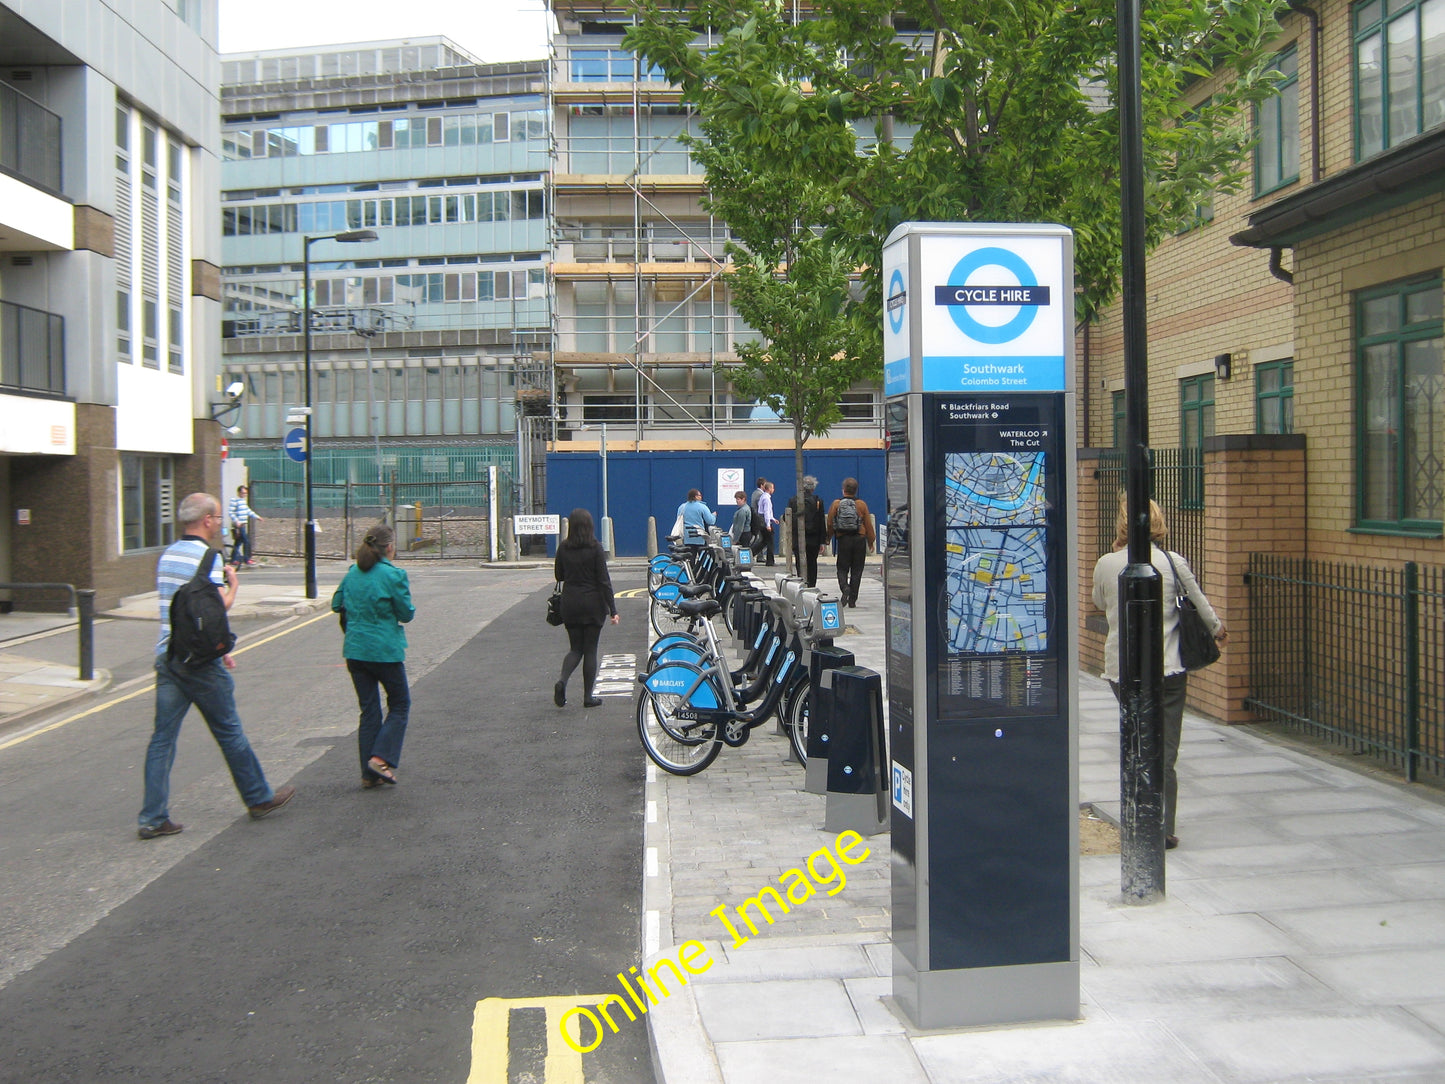
[[[1367,0],[1351,16],[1361,160],[1445,124],[1445,0]]]

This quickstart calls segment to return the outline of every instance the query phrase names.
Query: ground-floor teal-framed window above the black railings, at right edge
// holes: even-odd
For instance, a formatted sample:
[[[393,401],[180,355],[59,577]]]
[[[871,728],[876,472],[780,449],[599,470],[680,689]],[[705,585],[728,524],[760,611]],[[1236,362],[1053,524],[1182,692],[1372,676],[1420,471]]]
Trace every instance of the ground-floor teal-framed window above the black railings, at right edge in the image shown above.
[[[1360,529],[1439,535],[1445,516],[1441,278],[1355,295]]]

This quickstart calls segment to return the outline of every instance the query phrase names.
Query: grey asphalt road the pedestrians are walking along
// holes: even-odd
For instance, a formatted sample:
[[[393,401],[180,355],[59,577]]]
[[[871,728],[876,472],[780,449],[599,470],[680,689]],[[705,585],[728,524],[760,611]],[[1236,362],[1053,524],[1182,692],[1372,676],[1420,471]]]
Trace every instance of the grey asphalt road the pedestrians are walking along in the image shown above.
[[[611,991],[642,951],[631,698],[584,710],[578,675],[572,705],[552,704],[565,636],[542,621],[549,568],[409,571],[394,788],[358,786],[329,614],[240,645],[247,733],[272,783],[298,788],[269,820],[244,815],[192,713],[172,778],[186,831],[136,838],[143,679],[0,741],[0,1080],[540,1084],[548,1055],[575,1059],[542,1007],[555,1022],[561,1003],[542,999]],[[603,636],[617,671],[646,645],[644,600],[620,608]],[[474,1042],[483,1018],[509,1022],[504,1049],[494,1023]],[[643,1023],[581,1062],[594,1084],[652,1081]]]

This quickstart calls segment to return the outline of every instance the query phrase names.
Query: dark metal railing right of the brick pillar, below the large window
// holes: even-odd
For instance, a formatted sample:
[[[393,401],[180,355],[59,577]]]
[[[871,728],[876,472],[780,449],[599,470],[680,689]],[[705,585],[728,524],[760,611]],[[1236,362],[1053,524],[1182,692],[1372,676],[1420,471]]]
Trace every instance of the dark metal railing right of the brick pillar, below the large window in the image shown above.
[[[1445,780],[1445,567],[1251,554],[1259,715]]]

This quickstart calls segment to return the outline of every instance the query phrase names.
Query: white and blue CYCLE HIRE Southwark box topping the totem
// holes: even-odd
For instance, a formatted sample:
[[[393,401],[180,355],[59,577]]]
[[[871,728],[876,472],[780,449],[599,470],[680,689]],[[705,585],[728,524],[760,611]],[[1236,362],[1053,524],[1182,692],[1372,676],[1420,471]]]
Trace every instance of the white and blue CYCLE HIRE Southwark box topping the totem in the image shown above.
[[[1072,241],[1049,224],[893,230],[883,249],[884,393],[1066,390]]]

